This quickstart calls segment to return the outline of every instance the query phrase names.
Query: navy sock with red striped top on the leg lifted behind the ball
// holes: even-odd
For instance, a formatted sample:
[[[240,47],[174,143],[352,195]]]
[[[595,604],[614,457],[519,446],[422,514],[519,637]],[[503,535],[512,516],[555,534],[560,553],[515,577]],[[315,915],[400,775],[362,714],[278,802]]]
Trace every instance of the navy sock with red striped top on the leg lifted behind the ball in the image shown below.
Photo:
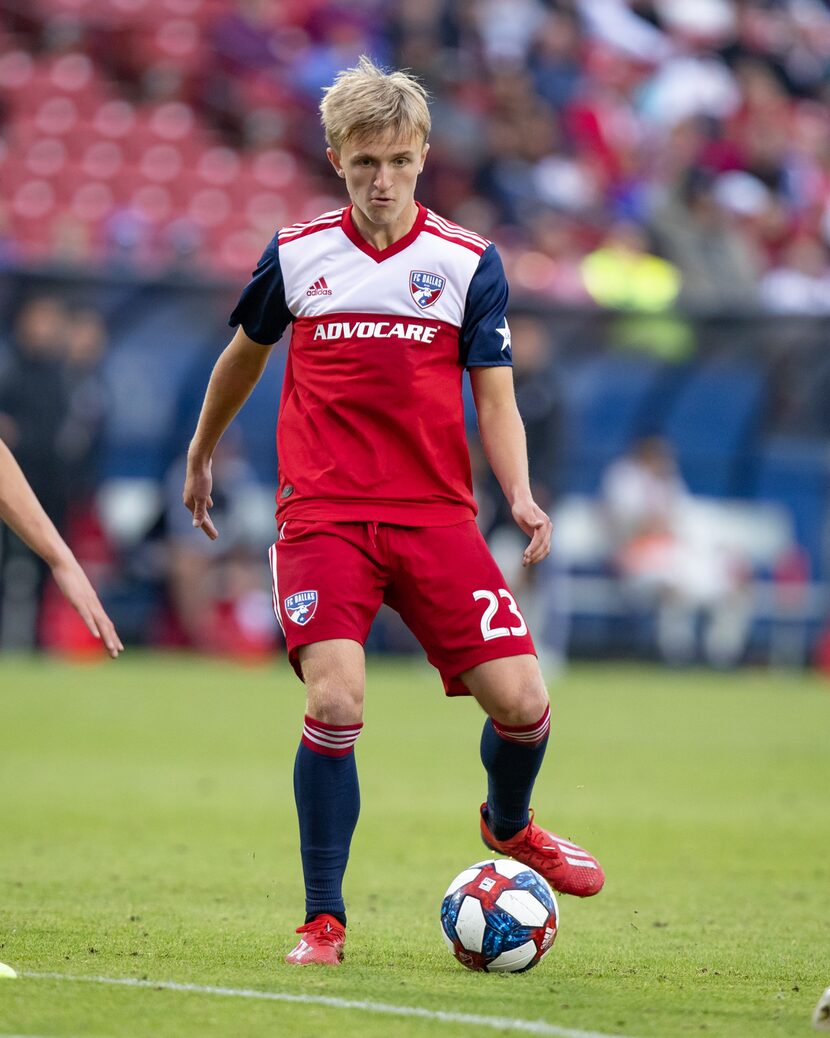
[[[530,795],[548,745],[550,707],[533,725],[499,725],[491,717],[481,732],[487,770],[487,822],[497,840],[509,840],[530,821]]]

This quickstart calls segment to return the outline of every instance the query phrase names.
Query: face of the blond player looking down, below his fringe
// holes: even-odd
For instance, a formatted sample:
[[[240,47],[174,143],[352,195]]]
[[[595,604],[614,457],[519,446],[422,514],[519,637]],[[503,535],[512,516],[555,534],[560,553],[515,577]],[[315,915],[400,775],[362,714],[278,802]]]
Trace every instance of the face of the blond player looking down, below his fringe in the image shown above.
[[[430,145],[410,138],[362,137],[349,140],[337,155],[326,153],[343,177],[361,231],[381,247],[403,238],[415,219],[415,185]]]

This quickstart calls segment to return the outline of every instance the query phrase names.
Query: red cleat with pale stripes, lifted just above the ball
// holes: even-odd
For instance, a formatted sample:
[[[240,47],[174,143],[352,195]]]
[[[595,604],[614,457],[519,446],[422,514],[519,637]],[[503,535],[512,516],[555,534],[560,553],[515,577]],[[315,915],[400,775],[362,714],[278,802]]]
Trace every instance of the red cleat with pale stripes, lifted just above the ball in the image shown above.
[[[605,873],[597,858],[569,840],[534,825],[532,811],[529,825],[509,840],[497,840],[493,836],[486,814],[487,804],[482,803],[481,839],[486,847],[529,865],[559,894],[589,898],[603,889]]]

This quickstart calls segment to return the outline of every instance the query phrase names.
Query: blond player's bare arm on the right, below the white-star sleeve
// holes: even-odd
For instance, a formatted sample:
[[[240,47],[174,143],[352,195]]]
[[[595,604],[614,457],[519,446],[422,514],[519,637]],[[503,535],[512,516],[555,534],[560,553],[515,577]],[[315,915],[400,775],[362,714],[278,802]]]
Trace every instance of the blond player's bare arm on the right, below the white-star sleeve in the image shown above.
[[[471,367],[470,381],[481,446],[507,498],[515,522],[530,538],[522,564],[532,566],[551,552],[552,523],[530,492],[527,440],[516,406],[513,368]]]

